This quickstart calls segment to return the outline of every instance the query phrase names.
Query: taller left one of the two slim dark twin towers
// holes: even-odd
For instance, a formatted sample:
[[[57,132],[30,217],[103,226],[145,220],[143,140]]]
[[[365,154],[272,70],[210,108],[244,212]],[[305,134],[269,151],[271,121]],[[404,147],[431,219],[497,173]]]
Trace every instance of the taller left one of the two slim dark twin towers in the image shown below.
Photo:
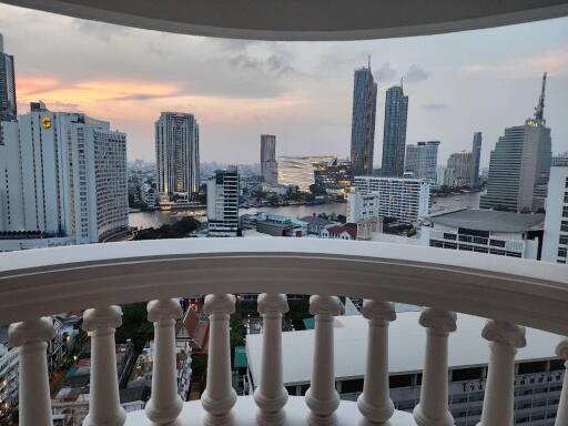
[[[376,108],[377,83],[373,80],[369,59],[368,67],[355,71],[353,85],[351,162],[356,176],[373,173]]]

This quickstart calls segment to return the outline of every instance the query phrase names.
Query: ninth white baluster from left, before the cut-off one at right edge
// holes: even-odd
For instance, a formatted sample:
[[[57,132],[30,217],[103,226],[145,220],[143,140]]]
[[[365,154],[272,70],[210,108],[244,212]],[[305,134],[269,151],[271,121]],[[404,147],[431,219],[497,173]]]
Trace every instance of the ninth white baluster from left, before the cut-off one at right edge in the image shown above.
[[[515,354],[524,347],[525,327],[487,321],[481,336],[489,341],[489,372],[485,386],[483,426],[513,426],[515,398]]]

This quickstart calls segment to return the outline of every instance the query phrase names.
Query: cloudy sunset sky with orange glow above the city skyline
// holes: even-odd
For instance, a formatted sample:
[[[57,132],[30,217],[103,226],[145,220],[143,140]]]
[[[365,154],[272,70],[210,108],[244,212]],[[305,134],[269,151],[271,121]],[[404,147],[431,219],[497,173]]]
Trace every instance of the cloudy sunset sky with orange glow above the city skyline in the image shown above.
[[[568,18],[419,38],[352,42],[222,40],[131,29],[0,6],[4,51],[16,59],[19,113],[108,120],[128,134],[129,159],[153,160],[161,111],[195,114],[201,160],[258,162],[260,134],[277,155],[347,156],[353,71],[372,57],[378,79],[375,164],[385,90],[404,77],[407,143],[439,140],[439,163],[484,133],[483,165],[505,126],[532,113],[548,71],[545,116],[555,153],[568,151]]]

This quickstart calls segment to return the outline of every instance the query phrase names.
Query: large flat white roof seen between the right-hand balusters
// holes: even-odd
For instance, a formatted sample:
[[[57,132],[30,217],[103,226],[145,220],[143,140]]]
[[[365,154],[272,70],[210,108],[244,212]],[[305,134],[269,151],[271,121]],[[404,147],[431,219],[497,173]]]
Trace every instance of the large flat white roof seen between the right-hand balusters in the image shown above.
[[[403,312],[390,323],[388,331],[388,371],[390,374],[419,372],[424,367],[426,331],[418,325],[419,312]],[[489,362],[487,342],[481,337],[485,318],[458,314],[457,331],[449,335],[448,365],[478,366]],[[366,368],[367,320],[362,315],[336,316],[335,377],[363,377]],[[283,381],[285,385],[310,382],[315,331],[282,333]],[[520,348],[516,359],[556,358],[555,347],[560,336],[527,328],[527,346]],[[408,351],[408,342],[419,348]],[[246,336],[248,365],[254,383],[260,383],[262,335]]]

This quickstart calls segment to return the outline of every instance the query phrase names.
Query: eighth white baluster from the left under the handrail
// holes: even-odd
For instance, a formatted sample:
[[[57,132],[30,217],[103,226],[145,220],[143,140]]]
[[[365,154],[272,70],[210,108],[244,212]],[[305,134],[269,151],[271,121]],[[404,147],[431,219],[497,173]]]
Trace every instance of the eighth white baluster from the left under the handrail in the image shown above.
[[[456,314],[434,307],[424,310],[420,325],[426,327],[426,354],[420,403],[414,408],[418,426],[450,426],[448,409],[448,334],[456,331]]]

